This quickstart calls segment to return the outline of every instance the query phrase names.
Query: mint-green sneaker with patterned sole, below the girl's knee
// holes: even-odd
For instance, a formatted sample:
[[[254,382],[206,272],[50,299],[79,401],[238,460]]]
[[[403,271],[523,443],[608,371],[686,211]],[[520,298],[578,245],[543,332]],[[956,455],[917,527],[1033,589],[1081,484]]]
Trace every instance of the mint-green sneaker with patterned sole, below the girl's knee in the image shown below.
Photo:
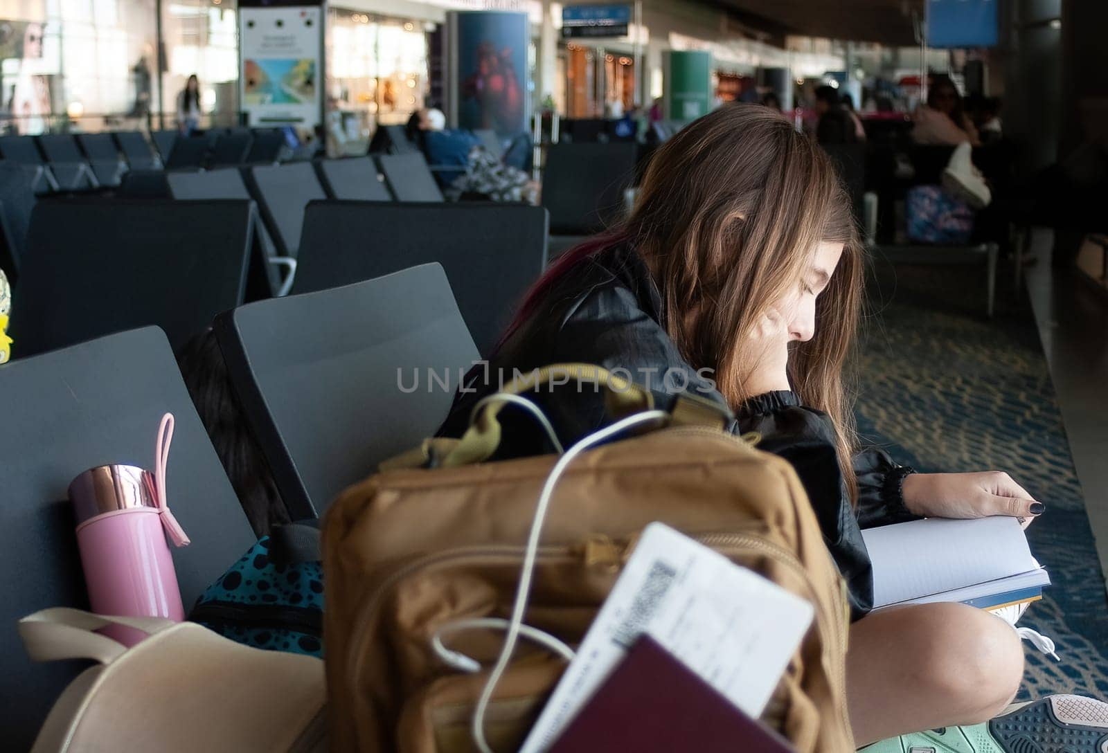
[[[984,724],[891,737],[864,753],[1108,753],[1108,703],[1048,695]]]

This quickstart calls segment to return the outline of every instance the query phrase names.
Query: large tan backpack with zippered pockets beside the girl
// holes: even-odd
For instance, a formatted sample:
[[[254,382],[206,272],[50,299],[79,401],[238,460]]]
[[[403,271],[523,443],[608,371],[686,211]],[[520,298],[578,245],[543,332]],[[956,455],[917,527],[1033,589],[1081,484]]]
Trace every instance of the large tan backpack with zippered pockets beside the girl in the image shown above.
[[[653,408],[648,391],[579,364],[536,371],[505,392],[567,378],[602,385],[613,415]],[[536,501],[557,462],[545,455],[481,463],[500,441],[501,408],[485,405],[461,440],[429,440],[382,464],[327,514],[324,621],[335,750],[475,750],[471,716],[504,635],[451,638],[452,649],[482,663],[476,674],[444,664],[431,640],[456,619],[509,616]],[[763,720],[801,753],[853,751],[845,585],[792,467],[721,425],[714,404],[683,396],[666,427],[574,458],[553,494],[525,621],[578,643],[636,537],[660,520],[813,604],[815,619]],[[564,666],[542,648],[519,644],[485,715],[496,753],[519,747]]]

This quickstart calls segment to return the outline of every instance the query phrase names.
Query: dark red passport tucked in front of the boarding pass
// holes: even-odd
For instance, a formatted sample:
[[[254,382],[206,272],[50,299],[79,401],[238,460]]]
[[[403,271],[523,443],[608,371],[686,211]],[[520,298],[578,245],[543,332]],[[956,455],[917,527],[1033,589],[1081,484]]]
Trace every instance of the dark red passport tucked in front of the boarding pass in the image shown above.
[[[789,753],[789,742],[642,636],[548,753]]]

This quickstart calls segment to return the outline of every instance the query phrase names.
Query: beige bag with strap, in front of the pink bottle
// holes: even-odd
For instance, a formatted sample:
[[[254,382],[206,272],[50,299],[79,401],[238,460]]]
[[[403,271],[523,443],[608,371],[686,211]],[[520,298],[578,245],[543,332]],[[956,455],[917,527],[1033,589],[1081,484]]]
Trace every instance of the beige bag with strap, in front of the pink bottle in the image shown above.
[[[148,633],[132,648],[93,632]],[[32,753],[324,751],[324,663],[235,643],[194,622],[44,609],[19,621],[35,661],[93,659],[50,711]]]

